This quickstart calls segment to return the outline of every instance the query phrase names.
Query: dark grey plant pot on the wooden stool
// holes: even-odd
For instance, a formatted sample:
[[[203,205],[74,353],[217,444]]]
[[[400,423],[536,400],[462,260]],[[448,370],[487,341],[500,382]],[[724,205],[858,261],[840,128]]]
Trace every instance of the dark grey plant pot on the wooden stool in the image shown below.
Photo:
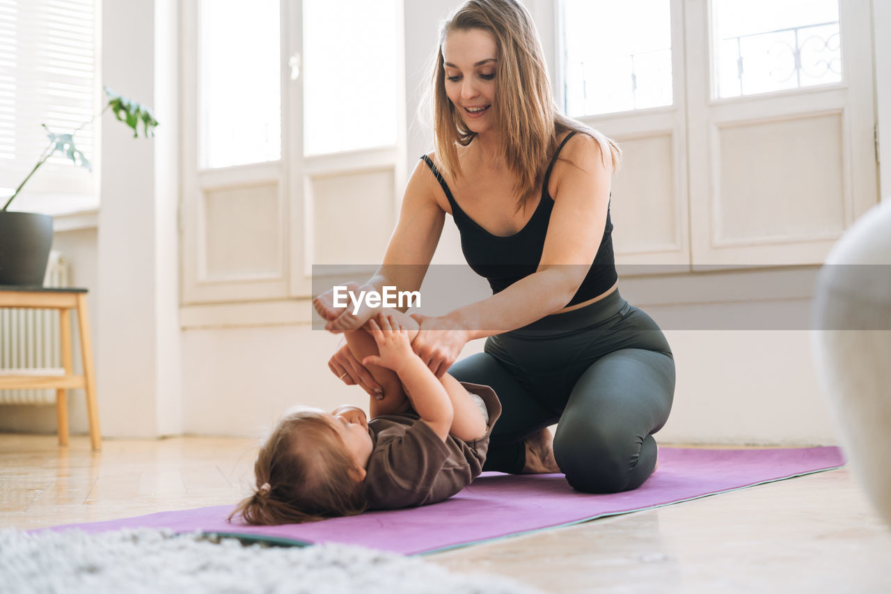
[[[42,286],[53,247],[53,217],[0,210],[0,285]]]

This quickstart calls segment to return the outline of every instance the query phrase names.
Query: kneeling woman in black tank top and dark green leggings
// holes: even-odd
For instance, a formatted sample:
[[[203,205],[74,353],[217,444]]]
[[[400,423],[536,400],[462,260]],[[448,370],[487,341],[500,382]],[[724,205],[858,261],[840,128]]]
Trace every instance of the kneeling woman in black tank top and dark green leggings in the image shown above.
[[[490,385],[503,413],[485,470],[554,471],[580,491],[635,489],[655,469],[674,394],[658,326],[617,291],[609,183],[619,151],[553,104],[541,42],[516,0],[470,0],[443,23],[433,72],[436,152],[405,189],[384,262],[362,290],[416,291],[453,216],[493,295],[441,317],[415,315],[412,347],[437,375]],[[326,329],[374,311],[315,300]],[[485,352],[454,363],[464,344]],[[453,365],[454,363],[454,365]],[[347,348],[346,384],[380,387]],[[559,421],[551,438],[546,427]]]

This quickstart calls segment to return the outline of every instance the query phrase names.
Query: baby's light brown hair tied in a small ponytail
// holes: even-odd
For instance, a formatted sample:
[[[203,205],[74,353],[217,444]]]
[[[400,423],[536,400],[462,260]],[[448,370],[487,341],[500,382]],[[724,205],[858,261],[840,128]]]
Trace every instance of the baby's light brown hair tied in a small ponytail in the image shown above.
[[[300,524],[355,516],[367,507],[356,462],[321,413],[282,418],[257,454],[253,495],[229,516],[248,524]]]

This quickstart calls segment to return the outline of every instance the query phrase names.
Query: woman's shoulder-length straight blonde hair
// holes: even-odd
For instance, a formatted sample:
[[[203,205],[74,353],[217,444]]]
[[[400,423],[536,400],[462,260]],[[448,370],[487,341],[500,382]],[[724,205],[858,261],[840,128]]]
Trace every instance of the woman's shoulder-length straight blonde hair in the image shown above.
[[[495,128],[502,141],[500,156],[517,180],[517,210],[540,192],[558,139],[569,130],[592,136],[600,144],[604,167],[618,168],[617,144],[569,119],[555,105],[544,50],[527,9],[517,0],[468,0],[443,21],[437,56],[431,61],[434,144],[446,172],[462,176],[455,144],[467,146],[477,135],[464,125],[446,95],[442,46],[452,31],[470,29],[488,31],[495,38]]]

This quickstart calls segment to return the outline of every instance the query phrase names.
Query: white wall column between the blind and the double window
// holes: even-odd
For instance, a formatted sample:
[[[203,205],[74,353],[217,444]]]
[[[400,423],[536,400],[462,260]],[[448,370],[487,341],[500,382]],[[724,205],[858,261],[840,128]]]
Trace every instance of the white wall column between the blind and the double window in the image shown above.
[[[182,433],[178,315],[178,13],[174,0],[102,3],[102,78],[161,122],[102,126],[96,388],[102,433]],[[112,83],[113,81],[113,83]]]

